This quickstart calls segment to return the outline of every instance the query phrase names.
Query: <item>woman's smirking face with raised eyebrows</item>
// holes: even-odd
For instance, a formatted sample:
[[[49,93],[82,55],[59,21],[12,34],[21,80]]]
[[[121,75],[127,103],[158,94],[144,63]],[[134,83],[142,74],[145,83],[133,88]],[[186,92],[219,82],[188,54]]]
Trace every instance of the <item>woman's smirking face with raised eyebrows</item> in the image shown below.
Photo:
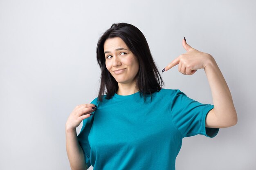
[[[139,71],[139,62],[119,38],[108,38],[104,45],[106,67],[118,83],[132,84]],[[121,71],[116,71],[122,69]]]

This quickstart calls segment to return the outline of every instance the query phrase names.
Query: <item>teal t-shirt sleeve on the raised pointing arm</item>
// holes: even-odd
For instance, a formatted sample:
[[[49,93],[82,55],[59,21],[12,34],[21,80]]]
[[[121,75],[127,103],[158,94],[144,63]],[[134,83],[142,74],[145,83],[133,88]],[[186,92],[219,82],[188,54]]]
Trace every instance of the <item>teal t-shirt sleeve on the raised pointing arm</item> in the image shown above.
[[[211,104],[202,104],[187,97],[178,89],[175,90],[171,99],[171,116],[182,137],[191,137],[198,134],[211,138],[215,137],[219,128],[205,127],[206,116],[213,108],[214,106]]]

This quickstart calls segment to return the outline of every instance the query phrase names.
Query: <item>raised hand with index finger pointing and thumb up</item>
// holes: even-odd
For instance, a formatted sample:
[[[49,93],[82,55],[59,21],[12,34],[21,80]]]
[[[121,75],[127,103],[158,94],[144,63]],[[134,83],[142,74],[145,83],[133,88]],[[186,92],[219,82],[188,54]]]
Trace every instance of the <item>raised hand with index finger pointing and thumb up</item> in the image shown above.
[[[205,68],[213,58],[208,53],[203,53],[192,48],[184,39],[182,41],[182,45],[187,52],[175,58],[168,66],[164,68],[165,70],[163,69],[163,71],[168,71],[173,66],[179,64],[178,70],[180,73],[184,75],[192,75],[198,69]]]

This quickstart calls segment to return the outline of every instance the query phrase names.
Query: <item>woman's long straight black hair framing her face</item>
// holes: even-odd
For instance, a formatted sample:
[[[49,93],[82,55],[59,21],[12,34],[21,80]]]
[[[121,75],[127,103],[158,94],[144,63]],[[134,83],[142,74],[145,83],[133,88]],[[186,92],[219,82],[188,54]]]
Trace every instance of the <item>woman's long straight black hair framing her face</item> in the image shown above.
[[[97,44],[97,62],[101,68],[101,85],[99,88],[98,101],[102,102],[102,97],[106,89],[106,99],[111,99],[118,90],[118,83],[111,73],[106,68],[106,58],[104,54],[104,42],[108,38],[121,38],[130,51],[137,57],[139,61],[139,71],[135,77],[136,88],[144,96],[150,94],[152,101],[152,93],[160,91],[164,82],[162,80],[157,66],[150,53],[148,42],[143,33],[132,24],[127,23],[114,23],[103,35],[99,38]]]

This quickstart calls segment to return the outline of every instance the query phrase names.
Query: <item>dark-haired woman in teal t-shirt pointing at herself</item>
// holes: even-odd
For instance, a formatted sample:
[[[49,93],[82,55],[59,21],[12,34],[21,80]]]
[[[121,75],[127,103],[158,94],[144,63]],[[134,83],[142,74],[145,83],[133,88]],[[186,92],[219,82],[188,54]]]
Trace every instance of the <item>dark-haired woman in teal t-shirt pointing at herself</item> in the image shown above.
[[[99,95],[74,108],[66,122],[66,148],[72,170],[175,170],[184,137],[215,137],[237,123],[231,93],[208,53],[182,41],[186,53],[173,60],[184,75],[203,68],[213,104],[202,104],[178,89],[162,88],[146,38],[137,27],[112,24],[99,39]],[[106,94],[104,95],[104,93]],[[76,127],[83,121],[79,135]]]

